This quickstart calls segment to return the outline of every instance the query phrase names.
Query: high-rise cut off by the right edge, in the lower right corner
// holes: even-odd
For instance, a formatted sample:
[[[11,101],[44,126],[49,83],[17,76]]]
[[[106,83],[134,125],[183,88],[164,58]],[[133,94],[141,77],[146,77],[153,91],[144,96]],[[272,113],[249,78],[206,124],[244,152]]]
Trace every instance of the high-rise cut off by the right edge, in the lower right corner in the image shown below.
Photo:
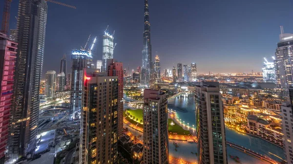
[[[289,88],[289,102],[283,102],[282,112],[282,130],[284,134],[285,160],[287,164],[293,164],[293,88]]]

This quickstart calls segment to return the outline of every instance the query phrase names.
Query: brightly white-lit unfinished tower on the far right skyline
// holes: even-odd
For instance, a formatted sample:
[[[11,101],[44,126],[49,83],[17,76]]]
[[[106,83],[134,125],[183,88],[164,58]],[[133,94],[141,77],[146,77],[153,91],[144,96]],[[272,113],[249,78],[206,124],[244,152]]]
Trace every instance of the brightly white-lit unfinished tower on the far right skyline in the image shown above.
[[[267,58],[264,58],[264,59],[265,59],[264,67],[262,68],[264,81],[267,83],[276,83],[276,73],[275,73],[274,63],[269,62]]]

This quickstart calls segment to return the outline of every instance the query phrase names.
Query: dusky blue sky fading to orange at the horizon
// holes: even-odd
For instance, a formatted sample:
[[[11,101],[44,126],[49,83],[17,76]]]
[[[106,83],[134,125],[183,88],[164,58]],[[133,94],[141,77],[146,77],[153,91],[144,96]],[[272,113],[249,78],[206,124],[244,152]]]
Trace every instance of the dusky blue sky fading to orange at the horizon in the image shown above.
[[[126,69],[142,65],[144,0],[58,1],[77,9],[48,2],[43,74],[59,72],[64,53],[70,73],[71,50],[84,46],[89,35],[98,39],[94,63],[101,60],[107,25],[115,30],[114,58]],[[12,1],[11,29],[18,2]],[[274,55],[279,26],[293,33],[292,8],[292,0],[149,0],[152,58],[159,55],[161,72],[191,62],[198,73],[261,72],[263,57]]]

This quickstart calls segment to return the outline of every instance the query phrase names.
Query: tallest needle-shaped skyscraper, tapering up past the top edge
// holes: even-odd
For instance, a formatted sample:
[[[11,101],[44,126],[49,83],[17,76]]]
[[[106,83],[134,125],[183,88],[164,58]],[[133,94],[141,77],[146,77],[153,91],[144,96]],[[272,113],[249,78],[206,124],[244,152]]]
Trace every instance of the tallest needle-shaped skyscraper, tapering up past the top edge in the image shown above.
[[[141,72],[141,84],[149,85],[150,73],[152,72],[152,57],[151,57],[151,44],[150,44],[150,23],[148,0],[145,0],[145,31],[144,31],[144,48],[143,48],[143,65]]]

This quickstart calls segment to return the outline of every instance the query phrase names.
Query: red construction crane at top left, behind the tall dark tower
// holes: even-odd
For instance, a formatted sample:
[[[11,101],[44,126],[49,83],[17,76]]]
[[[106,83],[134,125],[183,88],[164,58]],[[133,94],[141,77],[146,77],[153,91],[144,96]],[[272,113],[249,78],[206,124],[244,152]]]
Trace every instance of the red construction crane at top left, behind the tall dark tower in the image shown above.
[[[2,24],[1,24],[1,31],[0,32],[3,34],[6,34],[6,35],[8,34],[8,30],[9,30],[9,17],[10,17],[11,1],[12,0],[4,0],[4,9],[3,9]],[[61,3],[61,2],[58,2],[55,0],[46,0],[46,1],[76,9],[75,6],[71,6],[71,5]]]

